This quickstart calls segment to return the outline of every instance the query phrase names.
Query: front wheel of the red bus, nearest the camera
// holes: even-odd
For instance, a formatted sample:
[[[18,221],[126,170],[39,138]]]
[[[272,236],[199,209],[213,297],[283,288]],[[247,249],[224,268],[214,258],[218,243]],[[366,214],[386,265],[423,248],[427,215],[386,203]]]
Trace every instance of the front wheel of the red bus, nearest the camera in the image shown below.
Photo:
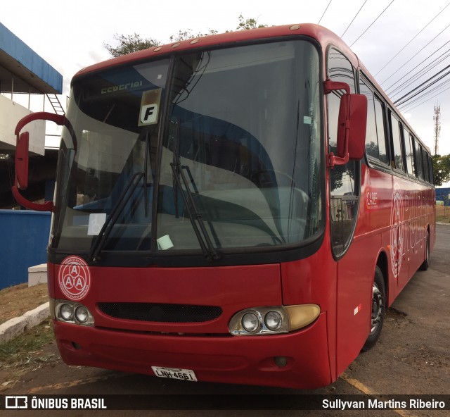
[[[386,290],[383,273],[378,266],[375,266],[375,276],[373,278],[372,287],[372,316],[371,316],[371,332],[369,333],[363,350],[368,351],[375,346],[380,337],[381,328],[383,328],[383,320],[385,318],[386,309]]]

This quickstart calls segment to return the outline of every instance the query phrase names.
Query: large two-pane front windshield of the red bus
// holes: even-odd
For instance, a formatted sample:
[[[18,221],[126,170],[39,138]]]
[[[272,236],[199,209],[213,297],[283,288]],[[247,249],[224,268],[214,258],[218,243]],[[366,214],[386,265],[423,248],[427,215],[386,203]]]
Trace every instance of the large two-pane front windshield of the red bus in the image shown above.
[[[319,54],[307,40],[186,52],[78,77],[51,247],[199,251],[321,229]]]

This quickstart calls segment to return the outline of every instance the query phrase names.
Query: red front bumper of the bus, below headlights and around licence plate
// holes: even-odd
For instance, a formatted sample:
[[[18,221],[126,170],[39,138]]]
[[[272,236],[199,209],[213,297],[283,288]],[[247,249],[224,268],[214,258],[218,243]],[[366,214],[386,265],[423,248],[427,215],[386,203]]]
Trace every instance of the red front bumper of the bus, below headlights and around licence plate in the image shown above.
[[[265,336],[165,335],[58,321],[53,327],[69,365],[148,375],[152,366],[181,368],[199,381],[302,389],[333,382],[326,313],[304,330]]]

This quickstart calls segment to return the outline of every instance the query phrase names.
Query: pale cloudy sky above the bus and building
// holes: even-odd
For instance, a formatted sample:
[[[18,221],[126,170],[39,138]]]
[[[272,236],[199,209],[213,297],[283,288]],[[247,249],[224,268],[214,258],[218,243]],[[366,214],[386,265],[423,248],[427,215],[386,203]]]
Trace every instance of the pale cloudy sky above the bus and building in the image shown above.
[[[166,44],[179,30],[234,30],[240,14],[265,25],[320,22],[352,47],[388,93],[442,56],[415,84],[397,91],[394,100],[450,65],[449,0],[15,0],[1,4],[0,22],[63,75],[65,102],[78,70],[110,58],[104,44],[117,45],[116,33]],[[435,85],[446,81],[425,103],[424,98],[402,110],[433,152],[433,116],[440,106],[442,155],[450,154],[450,89],[444,91],[450,75]]]

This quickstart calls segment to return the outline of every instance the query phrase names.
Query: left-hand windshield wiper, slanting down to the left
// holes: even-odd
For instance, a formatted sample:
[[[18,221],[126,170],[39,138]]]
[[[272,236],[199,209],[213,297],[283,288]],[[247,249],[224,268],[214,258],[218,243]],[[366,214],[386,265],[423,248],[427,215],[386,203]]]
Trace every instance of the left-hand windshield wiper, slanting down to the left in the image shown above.
[[[98,256],[101,254],[103,247],[105,247],[106,240],[108,239],[110,233],[113,231],[115,223],[119,219],[120,214],[127,205],[129,199],[133,195],[134,190],[139,185],[139,182],[141,182],[142,178],[145,178],[145,180],[147,181],[146,171],[134,174],[127,182],[127,185],[124,187],[124,190],[113,206],[110,215],[108,216],[105,224],[98,233],[98,237],[94,242],[91,251],[89,252],[89,259],[91,259],[92,261],[97,262],[100,259]]]

